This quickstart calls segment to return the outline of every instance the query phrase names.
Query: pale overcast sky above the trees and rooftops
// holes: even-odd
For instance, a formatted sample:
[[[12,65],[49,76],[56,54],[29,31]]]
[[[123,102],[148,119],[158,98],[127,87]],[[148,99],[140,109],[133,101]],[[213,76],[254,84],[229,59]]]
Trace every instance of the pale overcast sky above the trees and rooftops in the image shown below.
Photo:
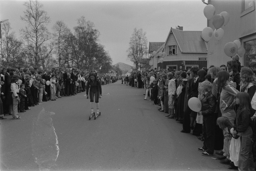
[[[0,0],[0,19],[9,19],[13,31],[25,27],[20,20],[25,1]],[[113,64],[127,61],[126,50],[134,28],[146,32],[148,42],[165,42],[170,28],[183,26],[183,30],[202,31],[207,27],[201,0],[179,1],[40,1],[51,19],[48,29],[63,20],[73,30],[77,19],[84,16],[100,32],[100,44],[113,60]],[[148,44],[147,44],[148,48]]]

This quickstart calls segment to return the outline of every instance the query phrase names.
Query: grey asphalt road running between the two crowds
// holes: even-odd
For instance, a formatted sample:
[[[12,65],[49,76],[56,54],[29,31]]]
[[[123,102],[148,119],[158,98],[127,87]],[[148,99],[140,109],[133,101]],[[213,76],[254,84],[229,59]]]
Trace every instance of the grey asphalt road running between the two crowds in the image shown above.
[[[101,115],[79,93],[40,103],[0,123],[1,170],[228,170],[202,156],[202,141],[180,133],[159,106],[143,100],[143,89],[121,81],[102,86]],[[96,107],[94,106],[94,109]],[[95,109],[96,111],[96,109]]]

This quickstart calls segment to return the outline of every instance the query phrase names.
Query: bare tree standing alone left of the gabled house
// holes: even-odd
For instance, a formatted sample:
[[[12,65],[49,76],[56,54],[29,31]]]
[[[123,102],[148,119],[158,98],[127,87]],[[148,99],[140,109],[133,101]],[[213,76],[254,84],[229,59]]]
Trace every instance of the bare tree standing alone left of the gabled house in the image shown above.
[[[132,37],[130,38],[129,48],[126,50],[127,60],[133,62],[138,69],[138,63],[141,63],[143,55],[146,53],[146,47],[141,45],[147,45],[146,32],[142,29],[137,30],[134,28]]]

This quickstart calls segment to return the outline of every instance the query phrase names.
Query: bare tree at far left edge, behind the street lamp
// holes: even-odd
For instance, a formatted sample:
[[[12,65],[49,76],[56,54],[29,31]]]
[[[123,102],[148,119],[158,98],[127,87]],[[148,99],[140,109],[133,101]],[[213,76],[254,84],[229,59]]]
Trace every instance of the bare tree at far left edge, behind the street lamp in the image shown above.
[[[24,60],[21,55],[22,42],[15,36],[15,32],[11,31],[10,23],[2,23],[2,39],[1,46],[1,62],[4,66],[18,66],[23,65]]]

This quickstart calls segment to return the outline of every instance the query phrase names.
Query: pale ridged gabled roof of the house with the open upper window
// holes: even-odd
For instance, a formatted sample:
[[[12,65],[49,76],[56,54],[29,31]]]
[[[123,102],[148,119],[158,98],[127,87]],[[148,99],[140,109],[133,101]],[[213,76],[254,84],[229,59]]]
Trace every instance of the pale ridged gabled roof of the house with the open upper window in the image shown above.
[[[205,41],[201,37],[202,31],[183,31],[171,28],[165,44],[171,33],[173,33],[182,53],[207,53]]]

